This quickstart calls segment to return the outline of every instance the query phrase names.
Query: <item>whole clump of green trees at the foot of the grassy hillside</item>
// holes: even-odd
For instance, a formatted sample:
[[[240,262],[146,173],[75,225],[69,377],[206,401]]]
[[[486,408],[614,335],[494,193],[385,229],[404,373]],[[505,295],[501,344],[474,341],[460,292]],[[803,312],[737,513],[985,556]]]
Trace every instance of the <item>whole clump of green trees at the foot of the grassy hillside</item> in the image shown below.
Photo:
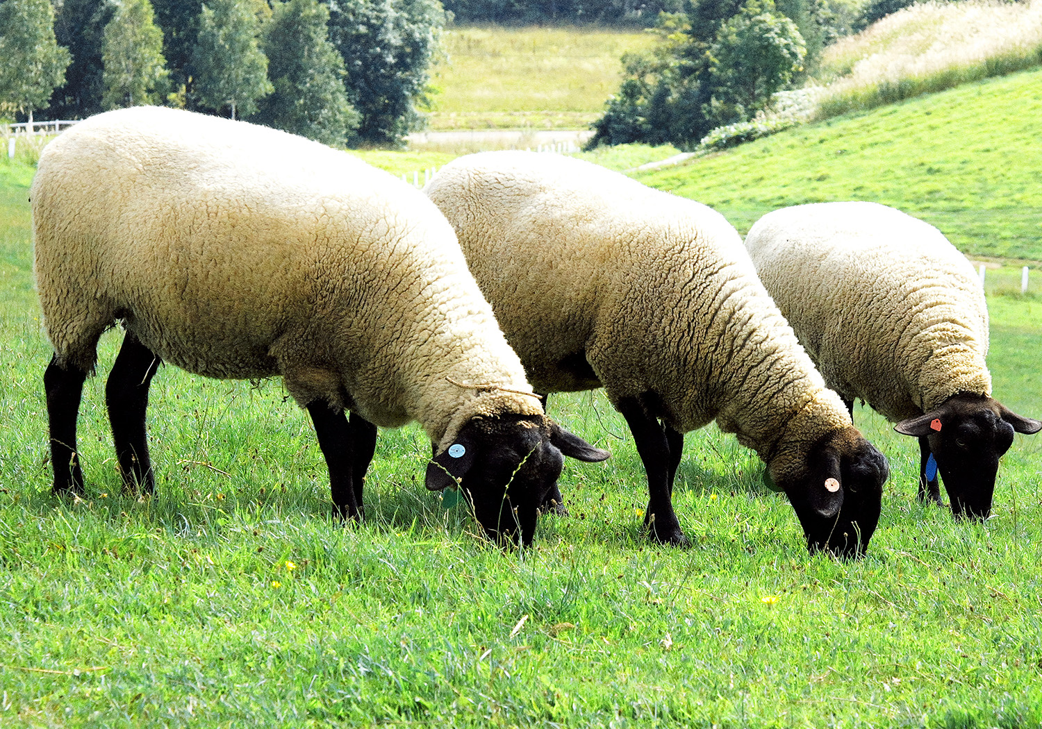
[[[594,122],[590,146],[689,149],[715,127],[750,119],[803,71],[809,44],[800,23],[820,49],[811,9],[804,0],[699,0],[661,16],[663,42],[623,56],[626,77]]]

